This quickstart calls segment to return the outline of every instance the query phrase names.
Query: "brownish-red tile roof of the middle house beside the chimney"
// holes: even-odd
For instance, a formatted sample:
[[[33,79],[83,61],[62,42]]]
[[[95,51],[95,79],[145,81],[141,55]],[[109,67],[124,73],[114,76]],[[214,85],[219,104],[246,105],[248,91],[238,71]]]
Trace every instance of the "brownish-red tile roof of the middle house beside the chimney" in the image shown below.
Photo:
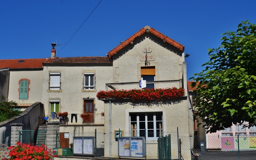
[[[105,57],[67,57],[67,58],[49,58],[44,63],[112,63],[107,56]]]

